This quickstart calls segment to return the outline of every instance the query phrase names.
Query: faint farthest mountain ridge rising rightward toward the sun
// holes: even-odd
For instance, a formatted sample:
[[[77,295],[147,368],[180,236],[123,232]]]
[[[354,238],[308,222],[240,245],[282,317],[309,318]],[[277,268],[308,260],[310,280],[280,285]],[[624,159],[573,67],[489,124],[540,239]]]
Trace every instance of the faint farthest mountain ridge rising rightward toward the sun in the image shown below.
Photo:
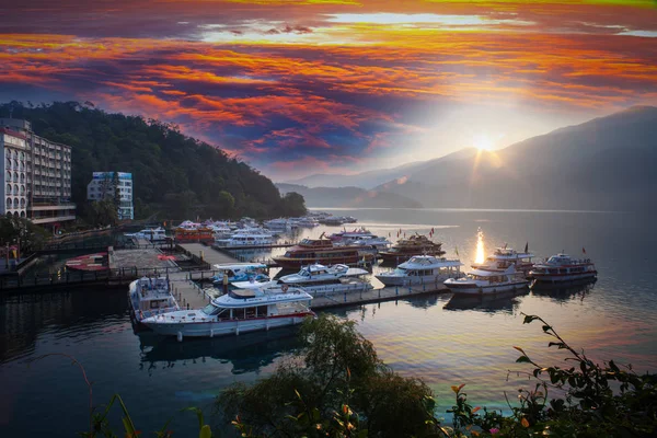
[[[403,178],[408,174],[413,174],[423,169],[430,168],[439,162],[447,162],[450,160],[457,160],[462,158],[469,158],[476,153],[476,149],[466,148],[461,149],[454,153],[437,158],[429,161],[415,161],[406,163],[392,169],[380,169],[368,172],[360,172],[353,175],[347,174],[326,174],[316,173],[313,175],[304,176],[299,180],[289,181],[284,184],[304,185],[307,187],[360,187],[366,189],[374,188],[383,183],[391,180]]]

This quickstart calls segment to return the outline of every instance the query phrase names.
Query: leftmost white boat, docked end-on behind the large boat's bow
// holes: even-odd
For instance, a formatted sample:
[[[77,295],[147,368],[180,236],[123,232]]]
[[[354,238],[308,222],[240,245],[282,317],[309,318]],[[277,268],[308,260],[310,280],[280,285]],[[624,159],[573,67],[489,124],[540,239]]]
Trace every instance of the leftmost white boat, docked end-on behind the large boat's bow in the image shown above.
[[[142,322],[145,318],[181,309],[171,295],[169,280],[164,277],[143,277],[130,283],[128,298],[137,322]]]

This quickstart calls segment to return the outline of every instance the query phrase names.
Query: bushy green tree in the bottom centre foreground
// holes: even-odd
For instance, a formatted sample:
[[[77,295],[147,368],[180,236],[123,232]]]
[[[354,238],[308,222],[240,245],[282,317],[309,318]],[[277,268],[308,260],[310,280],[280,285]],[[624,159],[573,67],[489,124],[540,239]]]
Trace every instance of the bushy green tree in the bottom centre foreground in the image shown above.
[[[318,435],[316,425],[326,427],[323,420],[335,418],[336,411],[359,413],[354,422],[368,436],[422,436],[434,429],[430,389],[387,367],[354,322],[325,314],[309,319],[301,338],[299,355],[273,376],[222,393],[217,406],[224,418],[239,417],[252,436],[268,437],[326,436]],[[299,422],[301,415],[315,420]]]

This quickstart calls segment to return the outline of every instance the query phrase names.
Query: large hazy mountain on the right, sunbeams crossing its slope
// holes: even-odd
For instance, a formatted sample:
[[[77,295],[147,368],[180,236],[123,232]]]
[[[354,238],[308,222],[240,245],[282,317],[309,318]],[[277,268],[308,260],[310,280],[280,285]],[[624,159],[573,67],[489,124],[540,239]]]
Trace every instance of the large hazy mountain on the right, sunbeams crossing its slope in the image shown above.
[[[657,107],[635,106],[498,151],[433,161],[377,189],[426,207],[655,208]]]

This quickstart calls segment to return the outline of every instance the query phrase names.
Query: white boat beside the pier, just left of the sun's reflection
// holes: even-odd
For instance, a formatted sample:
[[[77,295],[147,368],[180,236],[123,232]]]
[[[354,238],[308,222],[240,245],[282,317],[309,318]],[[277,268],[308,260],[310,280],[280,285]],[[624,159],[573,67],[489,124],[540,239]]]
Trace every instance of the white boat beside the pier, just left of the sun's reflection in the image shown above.
[[[385,286],[433,285],[447,278],[461,277],[459,260],[447,260],[433,255],[414,255],[394,270],[383,272],[376,277]]]

